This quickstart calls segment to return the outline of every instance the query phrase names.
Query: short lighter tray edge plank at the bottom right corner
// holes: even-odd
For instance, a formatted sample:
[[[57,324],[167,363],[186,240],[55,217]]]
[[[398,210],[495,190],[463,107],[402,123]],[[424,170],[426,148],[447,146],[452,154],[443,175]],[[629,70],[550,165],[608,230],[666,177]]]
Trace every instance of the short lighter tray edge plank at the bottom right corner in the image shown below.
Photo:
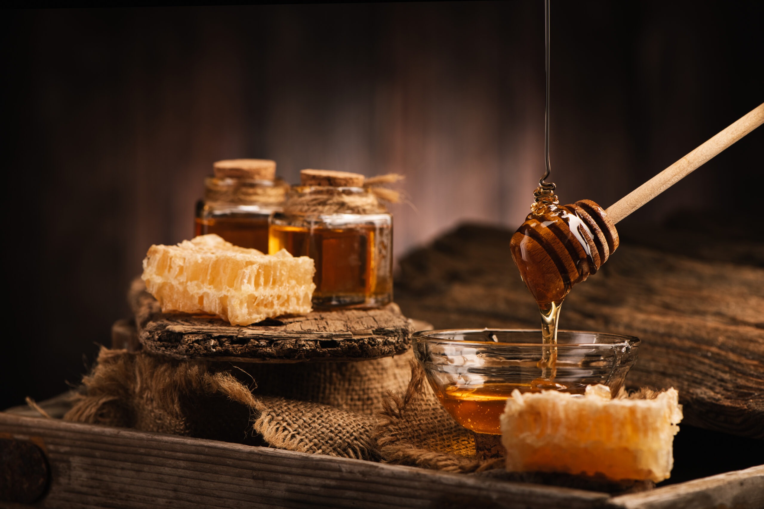
[[[760,509],[764,507],[764,465],[613,497],[610,504],[625,509]]]

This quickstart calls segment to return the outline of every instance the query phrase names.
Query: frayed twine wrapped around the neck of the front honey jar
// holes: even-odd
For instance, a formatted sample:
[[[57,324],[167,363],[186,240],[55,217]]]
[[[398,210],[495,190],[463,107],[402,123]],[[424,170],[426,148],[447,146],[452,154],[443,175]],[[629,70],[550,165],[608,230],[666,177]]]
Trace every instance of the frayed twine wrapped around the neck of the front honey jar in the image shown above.
[[[403,180],[397,173],[364,179],[362,187],[299,185],[291,188],[284,204],[285,214],[384,214],[384,203],[398,203],[401,193],[380,187]]]

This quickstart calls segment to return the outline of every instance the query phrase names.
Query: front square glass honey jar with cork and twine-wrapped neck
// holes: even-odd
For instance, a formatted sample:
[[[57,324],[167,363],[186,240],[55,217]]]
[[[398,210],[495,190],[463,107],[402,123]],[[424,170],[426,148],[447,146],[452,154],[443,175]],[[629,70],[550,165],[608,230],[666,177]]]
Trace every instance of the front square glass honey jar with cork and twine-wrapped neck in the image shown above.
[[[270,219],[269,250],[316,263],[316,308],[393,300],[393,216],[358,173],[304,169]]]

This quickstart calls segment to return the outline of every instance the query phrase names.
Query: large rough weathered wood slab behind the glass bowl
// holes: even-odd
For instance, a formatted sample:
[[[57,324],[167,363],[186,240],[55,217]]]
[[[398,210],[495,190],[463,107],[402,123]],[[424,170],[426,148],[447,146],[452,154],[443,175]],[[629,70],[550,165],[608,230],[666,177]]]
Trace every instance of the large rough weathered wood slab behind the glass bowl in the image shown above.
[[[511,236],[465,225],[411,253],[397,302],[436,329],[539,328]],[[676,388],[684,424],[764,438],[764,269],[626,243],[573,288],[560,321],[639,337],[626,385]]]

